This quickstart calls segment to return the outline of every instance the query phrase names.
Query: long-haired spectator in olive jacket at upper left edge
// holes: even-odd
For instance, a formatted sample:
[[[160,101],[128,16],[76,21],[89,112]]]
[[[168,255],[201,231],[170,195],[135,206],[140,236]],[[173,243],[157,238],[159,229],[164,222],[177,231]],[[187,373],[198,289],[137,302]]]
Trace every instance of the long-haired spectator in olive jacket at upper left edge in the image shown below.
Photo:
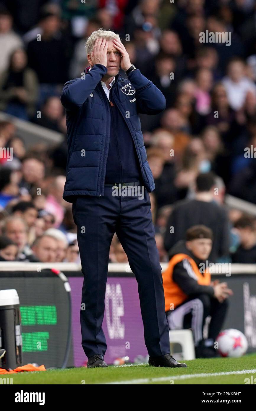
[[[28,120],[35,114],[37,89],[37,76],[27,67],[25,51],[15,50],[10,56],[9,67],[0,73],[0,110]]]

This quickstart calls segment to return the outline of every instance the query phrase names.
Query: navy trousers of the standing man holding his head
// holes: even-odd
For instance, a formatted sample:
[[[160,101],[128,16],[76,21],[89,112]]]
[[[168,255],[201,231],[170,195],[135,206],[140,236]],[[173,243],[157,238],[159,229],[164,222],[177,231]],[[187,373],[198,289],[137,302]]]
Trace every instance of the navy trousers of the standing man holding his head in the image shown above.
[[[78,247],[84,275],[80,311],[82,346],[89,358],[104,356],[102,330],[111,240],[116,232],[138,282],[145,345],[150,356],[170,353],[164,289],[152,223],[150,196],[78,196],[72,213],[77,226]],[[136,330],[134,330],[136,332]]]

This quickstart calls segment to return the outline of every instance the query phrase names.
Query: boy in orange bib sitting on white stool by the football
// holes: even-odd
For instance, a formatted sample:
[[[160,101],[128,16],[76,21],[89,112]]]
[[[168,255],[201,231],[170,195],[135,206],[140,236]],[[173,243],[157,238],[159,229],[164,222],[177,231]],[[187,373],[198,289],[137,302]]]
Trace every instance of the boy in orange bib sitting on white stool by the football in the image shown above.
[[[192,329],[197,358],[211,358],[217,356],[214,342],[233,292],[226,282],[211,282],[206,261],[212,248],[212,230],[193,226],[185,238],[171,249],[168,268],[162,274],[166,317],[170,330]],[[203,327],[209,315],[208,338],[204,338]]]

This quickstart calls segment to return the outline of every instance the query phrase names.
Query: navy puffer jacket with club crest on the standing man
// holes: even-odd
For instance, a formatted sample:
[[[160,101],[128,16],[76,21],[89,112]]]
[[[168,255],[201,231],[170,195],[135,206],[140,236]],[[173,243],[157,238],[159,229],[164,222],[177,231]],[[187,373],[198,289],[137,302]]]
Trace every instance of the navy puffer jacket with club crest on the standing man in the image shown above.
[[[63,199],[72,203],[74,196],[104,195],[104,179],[110,141],[111,112],[104,97],[101,79],[104,65],[96,64],[81,78],[65,83],[61,102],[67,111],[67,178]],[[115,76],[112,100],[123,116],[138,154],[144,184],[148,192],[155,183],[147,161],[139,113],[158,114],[165,109],[161,91],[136,69],[128,79]],[[134,100],[135,99],[135,100]],[[122,133],[122,130],[115,130]]]

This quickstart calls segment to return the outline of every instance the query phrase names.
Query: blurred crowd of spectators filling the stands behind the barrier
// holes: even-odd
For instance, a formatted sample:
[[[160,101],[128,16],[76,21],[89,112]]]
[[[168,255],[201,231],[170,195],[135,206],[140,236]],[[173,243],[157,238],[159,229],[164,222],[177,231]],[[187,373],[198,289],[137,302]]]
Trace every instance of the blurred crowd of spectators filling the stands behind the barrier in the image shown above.
[[[60,93],[88,66],[86,38],[99,28],[120,35],[166,97],[163,113],[141,115],[160,261],[189,226],[205,224],[216,232],[212,261],[255,263],[256,218],[224,205],[226,193],[256,205],[254,0],[0,1],[0,111],[64,136],[28,147],[14,122],[0,121],[0,260],[80,261],[62,199]],[[231,44],[201,42],[206,30],[230,33]],[[128,261],[116,236],[110,261]]]

